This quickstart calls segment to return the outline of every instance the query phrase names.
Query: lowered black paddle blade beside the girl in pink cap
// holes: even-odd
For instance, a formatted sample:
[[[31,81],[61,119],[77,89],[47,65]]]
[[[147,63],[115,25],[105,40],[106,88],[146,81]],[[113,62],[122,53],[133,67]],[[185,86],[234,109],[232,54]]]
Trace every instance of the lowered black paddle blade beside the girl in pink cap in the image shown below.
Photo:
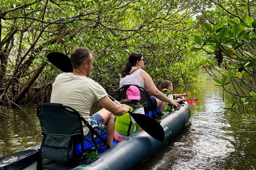
[[[152,136],[154,139],[158,141],[165,140],[165,132],[163,130],[163,127],[160,125],[159,122],[157,122],[157,120],[145,114],[132,113],[132,112],[129,112],[129,113],[130,115],[132,115],[135,122],[145,132],[147,132],[148,135]]]

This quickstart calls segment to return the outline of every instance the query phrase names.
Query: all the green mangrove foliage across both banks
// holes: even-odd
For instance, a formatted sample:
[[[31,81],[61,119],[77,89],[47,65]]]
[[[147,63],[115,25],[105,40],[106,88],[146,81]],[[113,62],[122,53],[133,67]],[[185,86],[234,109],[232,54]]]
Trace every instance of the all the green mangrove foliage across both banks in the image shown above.
[[[186,87],[205,69],[238,101],[229,109],[241,106],[255,117],[255,6],[256,0],[2,0],[1,105],[49,102],[60,71],[47,53],[85,47],[95,52],[90,77],[111,95],[136,51],[158,88],[164,79]]]

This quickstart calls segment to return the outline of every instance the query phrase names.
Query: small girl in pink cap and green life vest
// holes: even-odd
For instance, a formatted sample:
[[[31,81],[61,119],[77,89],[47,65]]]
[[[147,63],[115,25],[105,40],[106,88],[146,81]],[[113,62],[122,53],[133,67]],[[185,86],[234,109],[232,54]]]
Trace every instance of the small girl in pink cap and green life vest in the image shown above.
[[[120,101],[130,107],[133,113],[145,114],[143,107],[139,103],[140,90],[131,85],[126,91],[126,99]],[[125,140],[130,134],[140,131],[139,125],[134,121],[129,113],[116,117],[114,138],[117,142]]]

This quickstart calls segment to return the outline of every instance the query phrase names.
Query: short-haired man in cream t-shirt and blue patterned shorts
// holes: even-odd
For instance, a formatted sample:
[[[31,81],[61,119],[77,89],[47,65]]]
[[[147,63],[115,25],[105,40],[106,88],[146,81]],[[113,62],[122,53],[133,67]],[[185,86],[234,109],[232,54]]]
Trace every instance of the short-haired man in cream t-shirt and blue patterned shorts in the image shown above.
[[[112,146],[114,115],[121,116],[127,113],[130,107],[114,103],[99,83],[88,78],[93,67],[93,55],[90,50],[77,48],[72,51],[70,59],[73,72],[62,73],[56,77],[52,85],[51,103],[62,103],[76,109],[100,135],[105,133],[108,136],[107,142]],[[98,101],[103,109],[90,117],[90,109],[95,101]],[[90,141],[91,133],[85,125],[83,133],[84,140]]]

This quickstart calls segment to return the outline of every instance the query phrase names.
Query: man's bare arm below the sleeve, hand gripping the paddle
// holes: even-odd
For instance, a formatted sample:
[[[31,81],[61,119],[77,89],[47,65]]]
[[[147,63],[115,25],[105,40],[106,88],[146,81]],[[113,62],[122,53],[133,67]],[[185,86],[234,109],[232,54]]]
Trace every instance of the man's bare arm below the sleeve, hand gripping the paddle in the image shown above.
[[[98,102],[103,108],[117,116],[121,116],[130,111],[129,106],[126,104],[119,106],[118,104],[114,103],[108,96],[104,96],[103,98],[99,99]]]

